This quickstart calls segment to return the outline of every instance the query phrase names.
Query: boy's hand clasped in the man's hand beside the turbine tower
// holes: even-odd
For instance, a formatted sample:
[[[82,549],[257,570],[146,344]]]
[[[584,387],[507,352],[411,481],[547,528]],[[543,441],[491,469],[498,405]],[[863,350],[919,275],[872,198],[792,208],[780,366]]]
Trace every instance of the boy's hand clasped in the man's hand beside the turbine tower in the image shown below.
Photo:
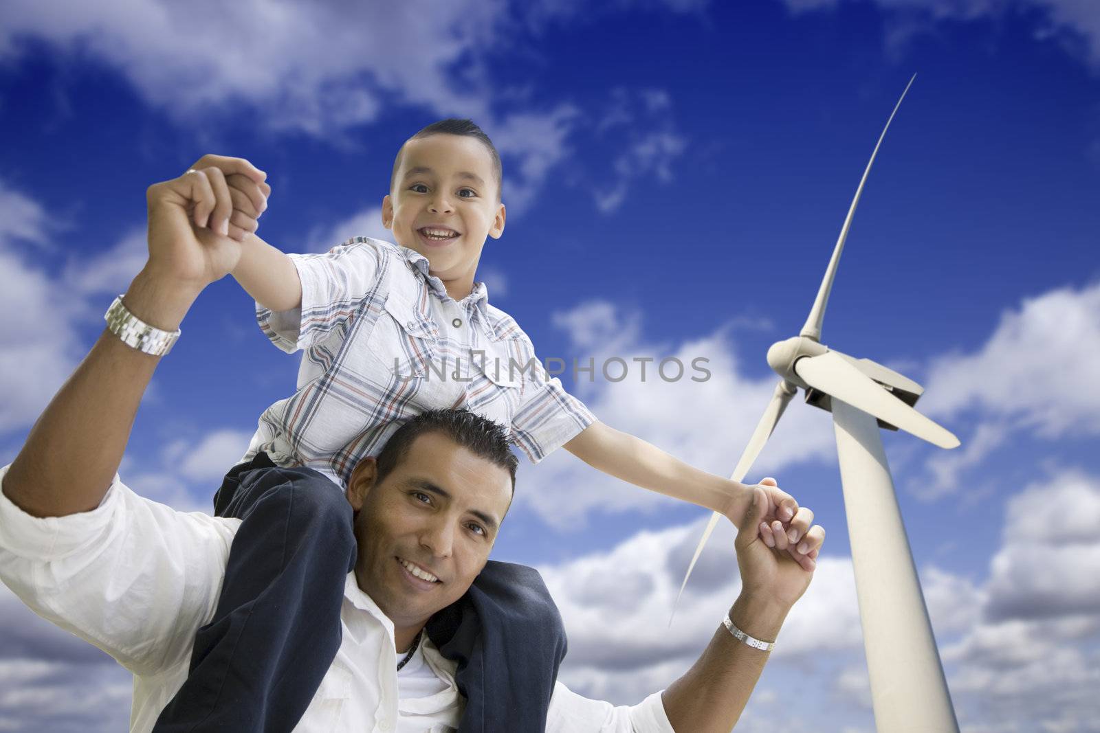
[[[813,511],[799,507],[791,495],[779,488],[776,479],[766,478],[760,481],[759,487],[768,497],[768,506],[759,524],[760,538],[769,547],[787,551],[804,569],[813,570],[817,565],[818,549],[825,540],[825,530],[815,526],[811,531]],[[737,526],[741,525],[756,490],[752,486],[745,489],[739,491],[726,513]]]

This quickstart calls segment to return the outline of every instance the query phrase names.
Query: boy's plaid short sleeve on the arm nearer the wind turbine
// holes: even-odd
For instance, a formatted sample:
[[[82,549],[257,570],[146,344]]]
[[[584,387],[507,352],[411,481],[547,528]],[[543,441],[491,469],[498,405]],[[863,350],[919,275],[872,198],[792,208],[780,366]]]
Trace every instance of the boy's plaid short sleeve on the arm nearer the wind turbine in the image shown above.
[[[558,377],[551,377],[542,368],[526,336],[514,343],[513,351],[518,354],[526,384],[512,418],[512,435],[530,462],[537,464],[576,437],[596,417],[565,391]]]

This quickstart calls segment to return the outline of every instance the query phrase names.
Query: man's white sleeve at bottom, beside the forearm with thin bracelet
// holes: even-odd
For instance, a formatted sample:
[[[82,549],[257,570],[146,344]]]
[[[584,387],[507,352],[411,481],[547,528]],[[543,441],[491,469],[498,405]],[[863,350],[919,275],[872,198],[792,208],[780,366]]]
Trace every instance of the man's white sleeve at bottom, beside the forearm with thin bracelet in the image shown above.
[[[663,690],[662,690],[663,691]],[[661,692],[636,706],[590,700],[556,682],[547,711],[547,733],[675,733],[664,714]]]

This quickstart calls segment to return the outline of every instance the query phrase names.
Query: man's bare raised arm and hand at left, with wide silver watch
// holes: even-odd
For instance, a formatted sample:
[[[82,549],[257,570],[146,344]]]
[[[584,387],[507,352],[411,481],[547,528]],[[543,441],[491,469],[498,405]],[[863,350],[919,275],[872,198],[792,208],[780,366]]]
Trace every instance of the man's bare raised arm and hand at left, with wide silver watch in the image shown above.
[[[263,180],[246,160],[228,159],[235,162],[237,173]],[[232,270],[241,256],[241,243],[216,233],[206,220],[240,211],[233,210],[227,188],[211,187],[194,170],[150,186],[146,201],[148,260],[122,301],[144,323],[174,331],[202,289]],[[199,220],[201,227],[195,224]],[[98,507],[158,360],[105,331],[31,429],[3,478],[4,496],[35,517]]]

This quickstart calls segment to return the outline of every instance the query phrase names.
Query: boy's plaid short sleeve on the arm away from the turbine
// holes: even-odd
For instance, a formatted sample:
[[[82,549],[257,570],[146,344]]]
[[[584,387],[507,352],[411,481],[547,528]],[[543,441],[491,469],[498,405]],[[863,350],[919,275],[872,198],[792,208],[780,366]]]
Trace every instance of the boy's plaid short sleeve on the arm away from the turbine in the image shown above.
[[[256,322],[288,354],[328,336],[354,313],[381,271],[381,243],[356,236],[322,255],[287,255],[301,280],[301,306],[272,311],[256,303]]]

